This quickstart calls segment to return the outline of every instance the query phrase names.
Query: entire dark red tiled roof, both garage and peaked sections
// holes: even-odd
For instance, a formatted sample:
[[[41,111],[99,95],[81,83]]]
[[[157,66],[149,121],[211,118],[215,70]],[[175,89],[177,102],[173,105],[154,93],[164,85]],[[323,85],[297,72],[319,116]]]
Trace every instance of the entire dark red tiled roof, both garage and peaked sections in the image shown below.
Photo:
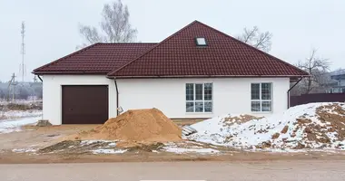
[[[197,47],[196,37],[204,37],[208,45]],[[198,21],[158,44],[95,43],[34,73],[108,73],[110,77],[308,75]]]

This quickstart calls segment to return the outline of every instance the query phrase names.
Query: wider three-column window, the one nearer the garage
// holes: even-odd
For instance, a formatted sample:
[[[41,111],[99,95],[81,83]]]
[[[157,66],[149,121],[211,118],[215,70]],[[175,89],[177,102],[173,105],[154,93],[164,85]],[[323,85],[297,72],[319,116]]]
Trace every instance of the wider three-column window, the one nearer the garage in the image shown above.
[[[212,112],[212,83],[186,84],[186,112]]]

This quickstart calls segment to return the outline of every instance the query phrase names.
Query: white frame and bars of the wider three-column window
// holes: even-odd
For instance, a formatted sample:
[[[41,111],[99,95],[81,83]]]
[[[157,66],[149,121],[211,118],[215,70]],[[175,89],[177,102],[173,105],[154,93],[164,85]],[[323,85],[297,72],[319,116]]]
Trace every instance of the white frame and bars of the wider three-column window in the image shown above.
[[[212,90],[212,99],[211,100],[205,100],[205,84],[210,83],[211,86],[211,90]],[[193,100],[187,100],[187,95],[186,95],[186,90],[187,90],[187,84],[192,84],[193,85]],[[202,100],[196,100],[196,84],[202,84]],[[184,111],[187,114],[195,114],[195,113],[202,113],[202,114],[212,114],[213,113],[213,83],[212,82],[196,82],[196,83],[185,83],[185,87],[184,87],[184,98],[185,98],[185,102],[184,102]],[[193,110],[192,112],[187,112],[187,108],[186,108],[186,103],[187,102],[192,102],[193,103]],[[202,102],[202,112],[196,112],[196,102]],[[211,107],[211,112],[205,112],[205,102],[212,102],[212,107]]]

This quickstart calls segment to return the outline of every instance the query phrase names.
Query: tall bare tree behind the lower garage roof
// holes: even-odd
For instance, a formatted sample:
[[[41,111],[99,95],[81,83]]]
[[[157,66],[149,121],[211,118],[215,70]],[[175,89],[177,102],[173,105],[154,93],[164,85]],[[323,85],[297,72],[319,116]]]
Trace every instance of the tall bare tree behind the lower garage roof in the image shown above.
[[[105,4],[102,12],[100,30],[93,26],[80,25],[79,32],[87,43],[84,47],[93,43],[130,43],[135,41],[137,30],[129,22],[129,11],[127,5],[121,0],[112,4]]]

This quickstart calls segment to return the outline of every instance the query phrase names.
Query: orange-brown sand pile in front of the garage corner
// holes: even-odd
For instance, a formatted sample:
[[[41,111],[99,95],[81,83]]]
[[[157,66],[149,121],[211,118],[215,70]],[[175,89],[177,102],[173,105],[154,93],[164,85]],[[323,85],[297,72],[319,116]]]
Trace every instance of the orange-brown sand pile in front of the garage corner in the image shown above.
[[[129,142],[170,142],[180,140],[182,129],[161,110],[128,110],[103,126],[79,133],[77,139],[104,139]]]

